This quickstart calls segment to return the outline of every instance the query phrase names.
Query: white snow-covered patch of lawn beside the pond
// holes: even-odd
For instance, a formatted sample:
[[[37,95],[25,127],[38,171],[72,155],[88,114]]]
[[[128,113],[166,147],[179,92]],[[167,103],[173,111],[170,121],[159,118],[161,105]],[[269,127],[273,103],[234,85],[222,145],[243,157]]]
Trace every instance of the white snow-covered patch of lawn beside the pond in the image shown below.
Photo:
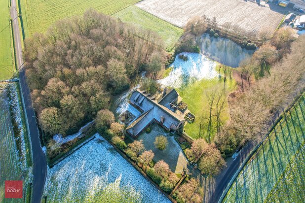
[[[180,55],[187,56],[188,60],[180,59]],[[196,80],[212,79],[218,76],[215,70],[216,62],[199,53],[178,54],[170,67],[173,70],[169,75],[158,80],[160,84],[168,87],[181,88]]]

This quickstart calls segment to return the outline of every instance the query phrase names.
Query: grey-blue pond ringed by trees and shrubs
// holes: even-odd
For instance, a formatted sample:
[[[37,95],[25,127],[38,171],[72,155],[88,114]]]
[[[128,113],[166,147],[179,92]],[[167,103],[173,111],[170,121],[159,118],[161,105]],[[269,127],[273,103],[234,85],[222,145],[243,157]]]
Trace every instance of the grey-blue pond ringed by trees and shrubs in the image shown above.
[[[240,45],[226,38],[214,38],[203,34],[199,39],[201,53],[221,64],[236,68],[239,63],[253,55],[255,50],[241,48]]]

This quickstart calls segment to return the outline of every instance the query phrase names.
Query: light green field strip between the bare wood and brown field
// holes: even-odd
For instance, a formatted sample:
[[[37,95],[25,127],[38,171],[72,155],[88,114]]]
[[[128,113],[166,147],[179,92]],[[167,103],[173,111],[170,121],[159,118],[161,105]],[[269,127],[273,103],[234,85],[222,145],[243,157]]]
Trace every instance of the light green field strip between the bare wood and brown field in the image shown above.
[[[167,51],[173,50],[176,42],[183,34],[181,28],[161,20],[134,5],[120,10],[113,16],[119,17],[123,22],[156,32],[164,40]]]

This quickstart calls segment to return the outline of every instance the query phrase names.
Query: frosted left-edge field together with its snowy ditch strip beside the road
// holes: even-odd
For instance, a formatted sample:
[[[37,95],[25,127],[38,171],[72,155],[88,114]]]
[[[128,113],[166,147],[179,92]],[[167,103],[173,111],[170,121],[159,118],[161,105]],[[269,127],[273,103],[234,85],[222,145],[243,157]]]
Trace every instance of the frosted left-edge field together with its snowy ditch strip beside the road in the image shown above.
[[[8,91],[9,90],[9,91]],[[8,97],[10,94],[10,98]],[[15,118],[20,135],[15,138],[9,106]],[[21,143],[21,152],[17,150],[15,139]],[[20,155],[22,157],[20,157]],[[24,156],[23,156],[24,155]],[[26,163],[26,151],[24,141],[23,121],[21,119],[21,107],[19,106],[15,83],[0,84],[0,202],[4,201],[4,181],[20,180],[28,181],[28,167]],[[26,184],[24,183],[24,188]],[[10,202],[22,202],[20,199]]]

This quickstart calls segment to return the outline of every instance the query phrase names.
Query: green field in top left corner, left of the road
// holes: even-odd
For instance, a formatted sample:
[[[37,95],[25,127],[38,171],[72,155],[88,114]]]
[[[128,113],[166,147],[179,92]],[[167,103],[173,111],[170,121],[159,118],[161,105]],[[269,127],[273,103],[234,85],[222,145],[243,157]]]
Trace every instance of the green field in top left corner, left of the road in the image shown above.
[[[9,79],[14,72],[9,21],[9,0],[0,1],[0,80]]]

